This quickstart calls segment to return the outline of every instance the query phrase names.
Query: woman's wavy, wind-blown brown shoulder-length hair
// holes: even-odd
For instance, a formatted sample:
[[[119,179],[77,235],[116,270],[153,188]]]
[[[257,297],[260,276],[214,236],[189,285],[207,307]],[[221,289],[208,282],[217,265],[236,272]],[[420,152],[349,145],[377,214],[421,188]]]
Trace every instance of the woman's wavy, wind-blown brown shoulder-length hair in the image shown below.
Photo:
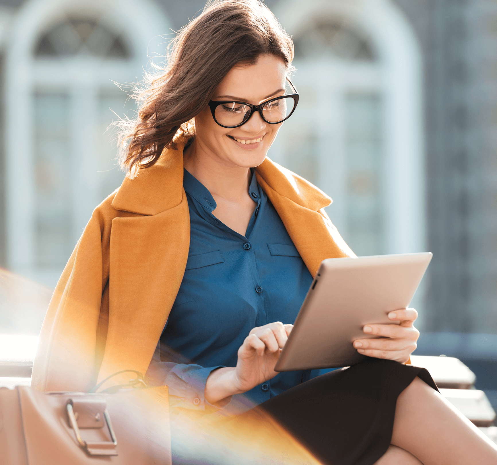
[[[205,108],[216,87],[237,64],[271,54],[291,67],[290,36],[260,0],[211,0],[178,32],[166,68],[148,74],[132,95],[137,118],[121,120],[121,165],[130,173],[152,166],[173,146],[178,130],[194,134],[191,120]]]

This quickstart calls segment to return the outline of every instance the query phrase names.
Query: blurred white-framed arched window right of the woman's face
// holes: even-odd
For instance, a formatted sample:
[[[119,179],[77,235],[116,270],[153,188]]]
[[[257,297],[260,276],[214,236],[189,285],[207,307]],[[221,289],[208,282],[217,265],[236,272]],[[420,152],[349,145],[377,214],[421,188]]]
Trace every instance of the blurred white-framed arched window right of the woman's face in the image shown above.
[[[333,198],[327,211],[358,255],[422,250],[420,54],[409,24],[390,0],[291,0],[274,11],[294,40],[300,100],[269,157]]]

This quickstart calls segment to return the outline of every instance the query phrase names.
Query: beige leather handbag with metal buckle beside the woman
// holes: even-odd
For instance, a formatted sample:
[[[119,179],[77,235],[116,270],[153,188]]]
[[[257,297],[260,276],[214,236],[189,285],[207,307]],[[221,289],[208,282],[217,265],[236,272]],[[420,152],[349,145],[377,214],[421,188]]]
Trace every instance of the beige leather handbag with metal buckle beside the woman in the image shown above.
[[[0,388],[1,465],[170,465],[167,387]]]

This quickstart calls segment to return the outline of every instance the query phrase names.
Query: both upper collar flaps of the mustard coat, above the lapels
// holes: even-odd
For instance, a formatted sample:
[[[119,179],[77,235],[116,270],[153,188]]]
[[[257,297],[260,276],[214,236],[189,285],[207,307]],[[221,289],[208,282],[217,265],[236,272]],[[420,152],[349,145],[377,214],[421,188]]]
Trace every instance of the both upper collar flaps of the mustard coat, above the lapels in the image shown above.
[[[186,140],[178,137],[174,142],[175,148],[164,150],[156,164],[140,170],[133,179],[126,176],[112,201],[113,208],[140,215],[157,215],[181,203]],[[331,198],[323,191],[268,157],[255,172],[274,191],[301,207],[319,211],[331,204]]]

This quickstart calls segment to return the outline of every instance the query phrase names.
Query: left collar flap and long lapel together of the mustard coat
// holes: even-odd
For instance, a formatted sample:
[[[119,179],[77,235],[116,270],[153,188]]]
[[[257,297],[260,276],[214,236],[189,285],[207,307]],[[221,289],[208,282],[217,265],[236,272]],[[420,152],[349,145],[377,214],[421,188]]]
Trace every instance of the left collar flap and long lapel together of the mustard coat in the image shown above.
[[[127,177],[112,202],[116,210],[139,216],[112,220],[108,327],[98,381],[130,368],[145,374],[183,279],[190,243],[183,146],[178,142],[154,166]]]

